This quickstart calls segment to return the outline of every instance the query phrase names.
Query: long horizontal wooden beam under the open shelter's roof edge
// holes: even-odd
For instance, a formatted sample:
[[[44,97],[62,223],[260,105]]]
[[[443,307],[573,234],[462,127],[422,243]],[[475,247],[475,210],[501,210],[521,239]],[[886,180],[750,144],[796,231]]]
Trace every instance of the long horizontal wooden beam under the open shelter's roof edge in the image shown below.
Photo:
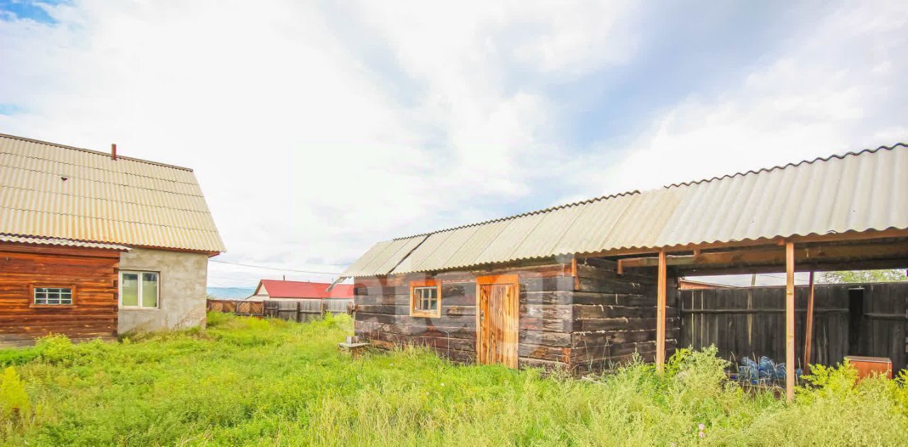
[[[908,258],[908,242],[804,247],[795,250],[795,260],[799,263],[850,258]],[[619,262],[624,268],[657,267],[659,259],[623,258]],[[701,253],[698,256],[668,256],[667,262],[674,267],[783,265],[785,252],[778,248],[753,248]]]

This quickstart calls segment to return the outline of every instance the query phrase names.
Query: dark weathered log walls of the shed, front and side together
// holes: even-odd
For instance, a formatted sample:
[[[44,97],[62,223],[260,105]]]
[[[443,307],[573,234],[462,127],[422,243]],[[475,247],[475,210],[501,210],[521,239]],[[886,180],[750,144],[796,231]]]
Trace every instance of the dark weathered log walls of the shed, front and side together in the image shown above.
[[[375,345],[428,345],[452,360],[476,359],[476,277],[517,274],[520,285],[519,366],[567,367],[575,374],[656,353],[656,274],[618,276],[616,263],[589,259],[484,272],[451,272],[441,282],[441,316],[410,316],[410,281],[425,276],[358,278],[356,335]],[[666,346],[679,335],[676,281],[669,280]]]

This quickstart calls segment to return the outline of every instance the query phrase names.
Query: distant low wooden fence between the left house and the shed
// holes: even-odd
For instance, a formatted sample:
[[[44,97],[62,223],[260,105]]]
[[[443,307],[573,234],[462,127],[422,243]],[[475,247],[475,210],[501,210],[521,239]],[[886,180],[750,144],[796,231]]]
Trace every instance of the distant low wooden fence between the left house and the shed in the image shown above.
[[[268,316],[304,322],[324,316],[329,312],[334,315],[350,314],[352,301],[351,299],[266,299],[261,301],[209,299],[206,308],[209,312],[223,312],[238,316]]]

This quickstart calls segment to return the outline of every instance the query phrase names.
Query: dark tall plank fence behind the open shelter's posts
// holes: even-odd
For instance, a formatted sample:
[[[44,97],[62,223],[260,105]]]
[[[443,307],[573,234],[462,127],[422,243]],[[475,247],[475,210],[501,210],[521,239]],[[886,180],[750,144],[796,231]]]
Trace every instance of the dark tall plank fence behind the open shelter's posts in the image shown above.
[[[766,355],[785,361],[785,287],[679,290],[680,346],[716,345],[737,361]],[[807,287],[795,287],[795,358],[804,363]],[[812,364],[845,355],[889,357],[898,371],[908,357],[908,283],[815,287]]]

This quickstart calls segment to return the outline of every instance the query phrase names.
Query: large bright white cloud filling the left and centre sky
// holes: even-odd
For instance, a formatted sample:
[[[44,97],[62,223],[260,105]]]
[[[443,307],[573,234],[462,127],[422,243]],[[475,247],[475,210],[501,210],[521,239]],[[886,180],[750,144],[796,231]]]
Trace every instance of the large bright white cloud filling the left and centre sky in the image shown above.
[[[618,14],[595,24],[583,5],[334,7],[342,16],[291,1],[84,0],[49,7],[57,24],[0,22],[0,97],[25,111],[0,126],[192,167],[223,258],[336,271],[380,238],[496,214],[478,198],[528,194],[522,166],[552,144],[550,104],[514,89],[508,64],[579,73],[574,47]],[[343,35],[351,21],[365,32]],[[403,79],[363,62],[356,46],[371,39]],[[604,53],[622,57],[617,45]],[[393,94],[410,85],[410,101]],[[230,286],[280,275],[211,273]]]

